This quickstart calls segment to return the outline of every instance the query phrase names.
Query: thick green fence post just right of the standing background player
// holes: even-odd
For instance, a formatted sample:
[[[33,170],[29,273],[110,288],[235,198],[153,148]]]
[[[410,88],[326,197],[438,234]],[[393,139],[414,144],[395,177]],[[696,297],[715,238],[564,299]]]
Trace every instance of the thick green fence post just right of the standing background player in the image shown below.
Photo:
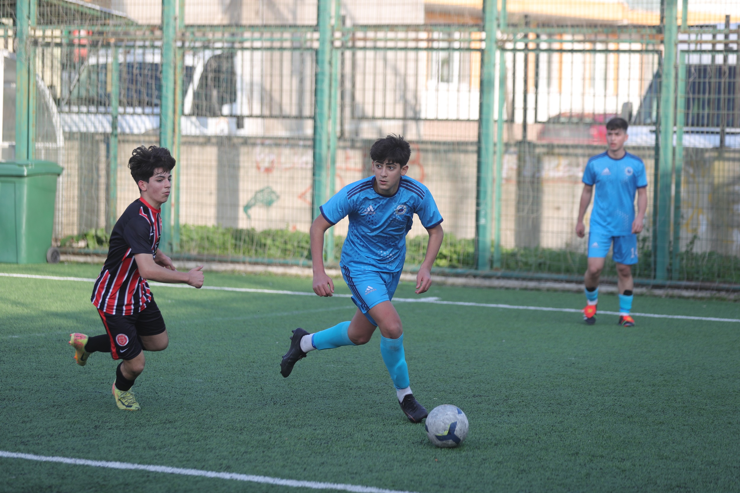
[[[670,182],[673,171],[673,117],[676,98],[676,40],[678,0],[665,0],[663,27],[663,77],[660,94],[660,155],[658,178],[658,222],[656,224],[655,277],[668,278],[670,260]]]

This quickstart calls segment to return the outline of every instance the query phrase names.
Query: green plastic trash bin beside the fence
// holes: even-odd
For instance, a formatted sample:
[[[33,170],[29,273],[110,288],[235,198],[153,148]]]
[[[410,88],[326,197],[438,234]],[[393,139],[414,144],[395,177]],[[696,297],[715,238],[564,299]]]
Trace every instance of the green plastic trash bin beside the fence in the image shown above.
[[[56,180],[49,161],[0,163],[0,262],[58,262],[51,248]]]

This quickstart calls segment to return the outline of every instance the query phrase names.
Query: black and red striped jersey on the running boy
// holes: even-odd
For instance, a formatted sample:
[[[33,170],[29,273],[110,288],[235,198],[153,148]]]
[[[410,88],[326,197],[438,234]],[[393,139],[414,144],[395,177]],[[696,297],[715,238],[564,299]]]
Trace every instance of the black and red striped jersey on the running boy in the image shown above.
[[[161,233],[160,210],[142,198],[134,200],[110,234],[108,258],[92,288],[92,305],[110,315],[132,315],[147,307],[152,292],[139,274],[134,255],[154,256]]]

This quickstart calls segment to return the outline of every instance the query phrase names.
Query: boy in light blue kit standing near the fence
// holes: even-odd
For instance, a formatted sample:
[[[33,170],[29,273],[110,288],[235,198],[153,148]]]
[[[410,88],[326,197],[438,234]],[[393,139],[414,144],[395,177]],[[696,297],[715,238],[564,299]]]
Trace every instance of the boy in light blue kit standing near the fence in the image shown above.
[[[619,324],[624,327],[635,324],[630,316],[634,287],[631,266],[637,263],[637,234],[642,231],[647,209],[647,176],[642,159],[625,151],[627,127],[627,121],[622,118],[609,120],[606,124],[608,150],[591,157],[583,173],[584,187],[576,225],[576,234],[581,238],[585,236],[583,217],[596,186],[588,231],[588,269],[584,275],[587,305],[583,318],[589,325],[596,323],[599,276],[612,244],[619,277]]]

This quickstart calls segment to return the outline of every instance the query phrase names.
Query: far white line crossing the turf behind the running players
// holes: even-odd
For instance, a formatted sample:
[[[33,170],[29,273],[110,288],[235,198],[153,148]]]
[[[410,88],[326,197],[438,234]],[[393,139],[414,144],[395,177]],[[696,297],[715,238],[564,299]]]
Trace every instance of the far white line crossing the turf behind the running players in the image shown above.
[[[59,277],[59,276],[36,276],[33,274],[16,274],[16,273],[4,273],[0,272],[0,276],[6,277],[22,277],[27,279],[48,279],[52,281],[80,281],[80,282],[95,282],[95,279],[89,279],[85,277]],[[192,288],[192,286],[184,284],[167,284],[164,282],[149,282],[152,286],[163,286],[166,288]],[[285,291],[285,290],[273,290],[273,289],[255,289],[255,288],[226,288],[223,286],[203,286],[201,289],[219,290],[219,291],[235,291],[237,293],[266,293],[266,294],[287,294],[292,296],[316,296],[315,293],[309,293],[306,291]],[[337,298],[351,298],[351,294],[334,294]],[[505,310],[537,310],[537,311],[549,311],[549,312],[565,312],[565,313],[582,313],[582,310],[576,308],[554,308],[554,307],[530,307],[524,305],[503,305],[499,303],[473,303],[473,302],[445,302],[437,297],[429,296],[426,298],[394,298],[394,302],[400,303],[431,303],[432,305],[457,305],[463,307],[485,307],[485,308],[503,308]],[[610,311],[599,311],[599,313],[605,313],[607,315],[619,315],[619,312]],[[662,315],[659,313],[632,313],[634,316],[645,316],[652,319],[679,319],[679,320],[701,320],[702,322],[740,322],[740,319],[720,319],[713,316],[687,316],[687,315]]]

